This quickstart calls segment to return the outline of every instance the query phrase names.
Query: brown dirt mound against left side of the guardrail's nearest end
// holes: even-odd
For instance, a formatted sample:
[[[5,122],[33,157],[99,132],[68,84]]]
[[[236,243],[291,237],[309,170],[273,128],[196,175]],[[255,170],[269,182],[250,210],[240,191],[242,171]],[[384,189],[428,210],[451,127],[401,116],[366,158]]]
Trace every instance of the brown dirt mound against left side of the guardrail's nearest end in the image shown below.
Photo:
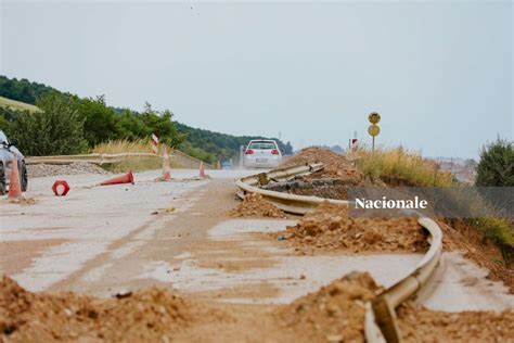
[[[381,288],[351,272],[277,313],[278,321],[310,342],[364,342],[364,303]]]

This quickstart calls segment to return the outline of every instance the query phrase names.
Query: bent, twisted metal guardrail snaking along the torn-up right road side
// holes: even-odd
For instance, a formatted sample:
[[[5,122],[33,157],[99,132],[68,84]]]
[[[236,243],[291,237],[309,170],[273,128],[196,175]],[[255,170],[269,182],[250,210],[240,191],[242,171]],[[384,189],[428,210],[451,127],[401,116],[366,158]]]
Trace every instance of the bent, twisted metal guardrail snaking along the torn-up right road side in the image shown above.
[[[321,169],[323,169],[323,164],[318,163],[274,169],[269,173],[244,177],[236,181],[237,187],[241,189],[237,195],[243,199],[246,193],[259,193],[279,208],[300,215],[312,212],[324,201],[348,205],[349,202],[343,200],[295,195],[259,188],[269,182],[288,181]],[[415,215],[415,213],[413,214]],[[433,219],[427,217],[421,217],[417,221],[427,230],[427,241],[431,247],[412,272],[384,290],[373,302],[365,304],[364,335],[367,342],[401,342],[395,309],[406,300],[415,296],[415,294],[426,285],[439,264],[442,253],[441,229]]]

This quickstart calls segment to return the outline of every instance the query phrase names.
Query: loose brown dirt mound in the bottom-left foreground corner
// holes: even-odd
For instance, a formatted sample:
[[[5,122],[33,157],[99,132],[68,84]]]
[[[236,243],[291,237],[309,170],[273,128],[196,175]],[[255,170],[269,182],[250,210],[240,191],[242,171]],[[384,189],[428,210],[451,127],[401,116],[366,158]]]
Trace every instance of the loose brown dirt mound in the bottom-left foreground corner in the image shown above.
[[[0,341],[169,342],[191,319],[191,304],[157,288],[97,300],[31,293],[0,279]]]

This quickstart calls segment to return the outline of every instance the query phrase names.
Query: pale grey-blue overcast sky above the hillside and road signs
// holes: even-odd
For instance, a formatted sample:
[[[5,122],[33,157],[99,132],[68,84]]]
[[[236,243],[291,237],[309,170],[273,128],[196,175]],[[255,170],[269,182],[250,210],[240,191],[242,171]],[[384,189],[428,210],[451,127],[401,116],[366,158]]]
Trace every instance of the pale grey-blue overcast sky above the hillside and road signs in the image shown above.
[[[513,139],[511,1],[0,0],[0,74],[178,122],[476,157]]]

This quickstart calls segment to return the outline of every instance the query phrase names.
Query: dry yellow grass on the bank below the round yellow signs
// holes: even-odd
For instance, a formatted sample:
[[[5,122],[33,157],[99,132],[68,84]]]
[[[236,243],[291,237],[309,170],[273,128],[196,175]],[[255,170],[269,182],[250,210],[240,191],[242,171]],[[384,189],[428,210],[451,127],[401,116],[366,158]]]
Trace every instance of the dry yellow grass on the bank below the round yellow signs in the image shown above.
[[[400,179],[420,187],[453,185],[451,174],[440,172],[437,163],[401,148],[376,150],[374,153],[360,149],[352,157],[356,158],[359,169],[373,178]]]

